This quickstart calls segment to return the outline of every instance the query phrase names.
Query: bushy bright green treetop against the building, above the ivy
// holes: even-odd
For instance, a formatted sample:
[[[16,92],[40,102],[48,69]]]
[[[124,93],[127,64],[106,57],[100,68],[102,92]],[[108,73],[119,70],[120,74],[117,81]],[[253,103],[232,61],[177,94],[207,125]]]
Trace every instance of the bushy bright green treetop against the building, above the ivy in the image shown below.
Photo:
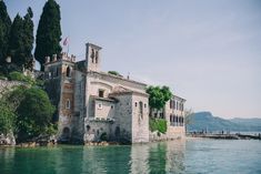
[[[149,104],[151,109],[160,110],[165,105],[165,102],[169,101],[172,96],[172,93],[168,86],[149,86],[147,89],[149,96]]]

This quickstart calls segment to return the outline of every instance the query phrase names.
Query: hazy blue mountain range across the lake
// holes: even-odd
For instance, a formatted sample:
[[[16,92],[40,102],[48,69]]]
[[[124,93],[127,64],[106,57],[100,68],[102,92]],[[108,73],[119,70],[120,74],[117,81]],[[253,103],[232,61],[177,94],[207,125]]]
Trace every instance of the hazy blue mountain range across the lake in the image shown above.
[[[189,131],[234,131],[261,132],[261,119],[231,119],[213,116],[210,112],[198,112],[191,116]]]

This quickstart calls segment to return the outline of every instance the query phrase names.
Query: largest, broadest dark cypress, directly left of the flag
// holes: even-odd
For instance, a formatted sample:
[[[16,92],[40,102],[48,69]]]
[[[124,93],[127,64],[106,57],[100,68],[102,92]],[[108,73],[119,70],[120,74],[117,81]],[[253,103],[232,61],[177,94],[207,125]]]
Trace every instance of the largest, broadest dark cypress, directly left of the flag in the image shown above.
[[[43,11],[37,30],[37,47],[34,57],[41,64],[46,57],[59,54],[61,52],[61,14],[60,6],[54,0],[48,0],[43,7]]]

